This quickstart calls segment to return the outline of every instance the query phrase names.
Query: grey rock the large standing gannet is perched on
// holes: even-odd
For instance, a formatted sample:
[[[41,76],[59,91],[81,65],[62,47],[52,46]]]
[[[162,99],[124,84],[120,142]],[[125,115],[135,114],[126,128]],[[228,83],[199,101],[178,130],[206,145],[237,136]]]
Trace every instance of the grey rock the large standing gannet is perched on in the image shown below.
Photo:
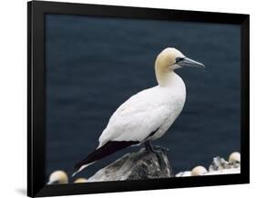
[[[162,167],[159,165],[159,159],[156,154],[148,153],[145,148],[135,153],[127,153],[116,162],[110,163],[105,168],[99,170],[87,182],[173,177],[166,151],[159,148],[159,156],[164,162]]]

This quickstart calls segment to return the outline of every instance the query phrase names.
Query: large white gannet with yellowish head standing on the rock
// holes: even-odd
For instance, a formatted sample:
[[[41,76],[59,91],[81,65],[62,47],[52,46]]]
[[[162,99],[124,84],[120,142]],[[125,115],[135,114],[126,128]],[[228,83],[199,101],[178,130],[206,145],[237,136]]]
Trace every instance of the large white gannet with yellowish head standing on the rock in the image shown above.
[[[155,62],[159,85],[131,96],[118,107],[100,135],[97,149],[75,165],[73,176],[97,160],[129,145],[144,143],[148,152],[158,156],[158,150],[150,141],[165,134],[182,111],[186,86],[174,70],[187,66],[204,67],[175,48],[164,49]]]

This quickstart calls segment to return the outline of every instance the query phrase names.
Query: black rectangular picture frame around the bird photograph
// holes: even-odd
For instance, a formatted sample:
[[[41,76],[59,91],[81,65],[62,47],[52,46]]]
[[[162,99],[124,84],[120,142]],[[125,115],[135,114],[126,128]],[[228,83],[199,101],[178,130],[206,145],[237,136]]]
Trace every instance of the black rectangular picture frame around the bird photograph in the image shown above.
[[[241,25],[241,173],[147,181],[46,185],[45,15],[94,15]],[[85,5],[27,3],[27,195],[127,192],[250,182],[250,15]]]

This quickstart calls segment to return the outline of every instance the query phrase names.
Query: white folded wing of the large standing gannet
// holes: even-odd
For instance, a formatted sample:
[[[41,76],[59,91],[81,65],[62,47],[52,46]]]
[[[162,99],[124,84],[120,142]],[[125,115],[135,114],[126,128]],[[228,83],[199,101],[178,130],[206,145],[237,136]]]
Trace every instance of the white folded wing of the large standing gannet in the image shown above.
[[[128,100],[111,116],[99,137],[99,144],[108,141],[143,141],[169,117],[168,106],[148,100]]]

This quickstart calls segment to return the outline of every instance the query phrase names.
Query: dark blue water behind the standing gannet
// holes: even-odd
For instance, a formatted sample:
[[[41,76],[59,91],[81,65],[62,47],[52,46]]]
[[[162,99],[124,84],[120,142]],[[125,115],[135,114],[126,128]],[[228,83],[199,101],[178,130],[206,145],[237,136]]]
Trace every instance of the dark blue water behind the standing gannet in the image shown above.
[[[111,114],[157,84],[156,55],[168,46],[206,65],[177,70],[187,102],[164,137],[175,173],[240,151],[240,27],[203,23],[46,15],[46,173],[97,146]],[[78,176],[95,173],[113,154]]]

